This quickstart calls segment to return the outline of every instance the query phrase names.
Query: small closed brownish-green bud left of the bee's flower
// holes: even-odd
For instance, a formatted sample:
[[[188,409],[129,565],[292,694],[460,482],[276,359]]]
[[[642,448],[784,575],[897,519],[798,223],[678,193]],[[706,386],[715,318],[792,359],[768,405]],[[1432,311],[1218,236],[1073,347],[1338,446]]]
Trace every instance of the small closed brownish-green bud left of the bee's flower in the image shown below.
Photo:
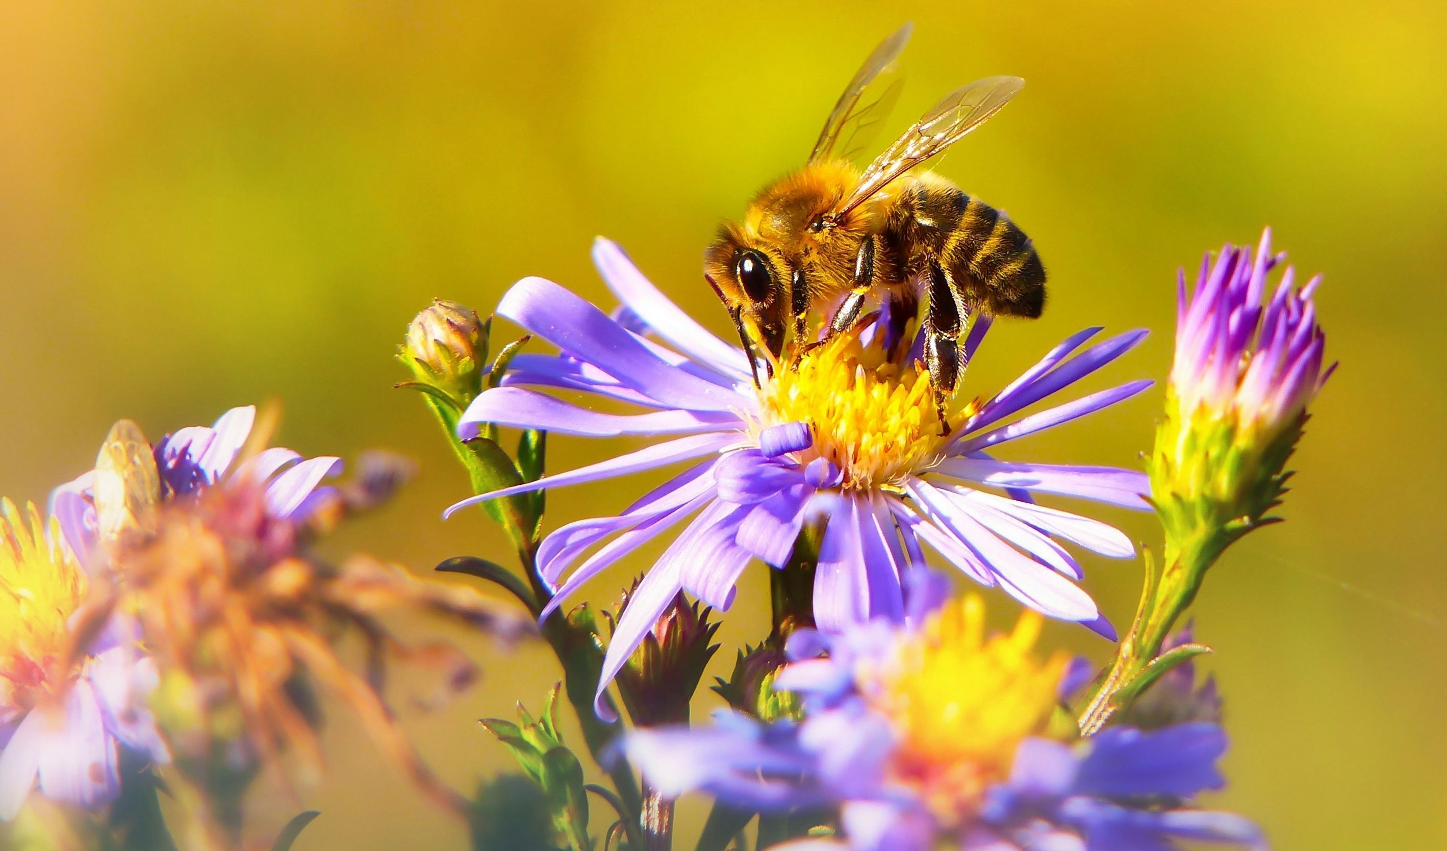
[[[407,327],[407,342],[398,357],[417,381],[467,405],[482,392],[488,330],[478,311],[437,298]]]

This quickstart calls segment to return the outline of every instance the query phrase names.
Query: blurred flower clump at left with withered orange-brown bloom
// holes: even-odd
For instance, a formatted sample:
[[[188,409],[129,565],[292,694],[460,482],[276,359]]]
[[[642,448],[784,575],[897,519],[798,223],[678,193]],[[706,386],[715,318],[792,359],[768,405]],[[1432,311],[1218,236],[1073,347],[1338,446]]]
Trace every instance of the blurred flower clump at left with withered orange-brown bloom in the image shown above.
[[[405,466],[365,456],[360,475],[324,483],[341,459],[266,449],[256,420],[255,408],[233,408],[155,444],[123,420],[96,467],[55,489],[48,517],[3,502],[0,819],[35,789],[101,810],[127,787],[153,793],[150,771],[169,764],[175,793],[201,816],[195,847],[230,847],[239,796],[260,770],[279,769],[284,753],[320,764],[317,685],[424,789],[463,806],[331,635],[356,630],[381,661],[407,656],[376,619],[386,609],[444,611],[504,635],[527,621],[401,567],[315,559],[307,543],[385,499]],[[467,660],[441,650],[428,661],[447,664],[449,682],[470,679]]]

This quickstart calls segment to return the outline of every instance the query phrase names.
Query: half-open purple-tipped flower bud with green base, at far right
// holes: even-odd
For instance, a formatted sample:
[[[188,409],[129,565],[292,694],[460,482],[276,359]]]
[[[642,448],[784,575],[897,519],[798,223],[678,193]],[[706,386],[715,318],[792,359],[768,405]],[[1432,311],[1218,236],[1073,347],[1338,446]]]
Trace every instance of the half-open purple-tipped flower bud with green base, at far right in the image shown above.
[[[1189,298],[1182,275],[1166,418],[1150,459],[1168,546],[1214,538],[1224,547],[1285,492],[1286,459],[1331,369],[1323,369],[1325,334],[1312,302],[1320,279],[1297,288],[1286,268],[1265,298],[1281,261],[1268,230],[1255,259],[1227,246],[1214,265],[1202,263]]]

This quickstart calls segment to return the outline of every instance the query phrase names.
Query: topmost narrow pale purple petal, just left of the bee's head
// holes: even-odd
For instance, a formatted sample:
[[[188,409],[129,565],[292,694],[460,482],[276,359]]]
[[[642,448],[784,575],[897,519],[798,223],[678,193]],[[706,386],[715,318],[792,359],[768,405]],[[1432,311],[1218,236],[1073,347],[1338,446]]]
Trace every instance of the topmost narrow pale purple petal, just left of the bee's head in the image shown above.
[[[598,237],[593,242],[593,263],[618,301],[627,304],[661,340],[725,375],[748,378],[744,352],[709,333],[669,301],[616,243]]]

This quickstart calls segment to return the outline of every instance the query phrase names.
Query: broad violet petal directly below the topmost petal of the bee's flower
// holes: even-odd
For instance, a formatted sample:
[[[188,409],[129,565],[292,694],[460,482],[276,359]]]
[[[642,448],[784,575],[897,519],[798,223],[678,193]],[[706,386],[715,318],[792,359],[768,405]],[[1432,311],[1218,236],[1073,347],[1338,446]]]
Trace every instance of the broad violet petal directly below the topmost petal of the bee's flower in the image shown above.
[[[739,394],[669,365],[603,311],[551,281],[518,281],[498,302],[498,316],[666,407],[695,411],[739,407]]]

